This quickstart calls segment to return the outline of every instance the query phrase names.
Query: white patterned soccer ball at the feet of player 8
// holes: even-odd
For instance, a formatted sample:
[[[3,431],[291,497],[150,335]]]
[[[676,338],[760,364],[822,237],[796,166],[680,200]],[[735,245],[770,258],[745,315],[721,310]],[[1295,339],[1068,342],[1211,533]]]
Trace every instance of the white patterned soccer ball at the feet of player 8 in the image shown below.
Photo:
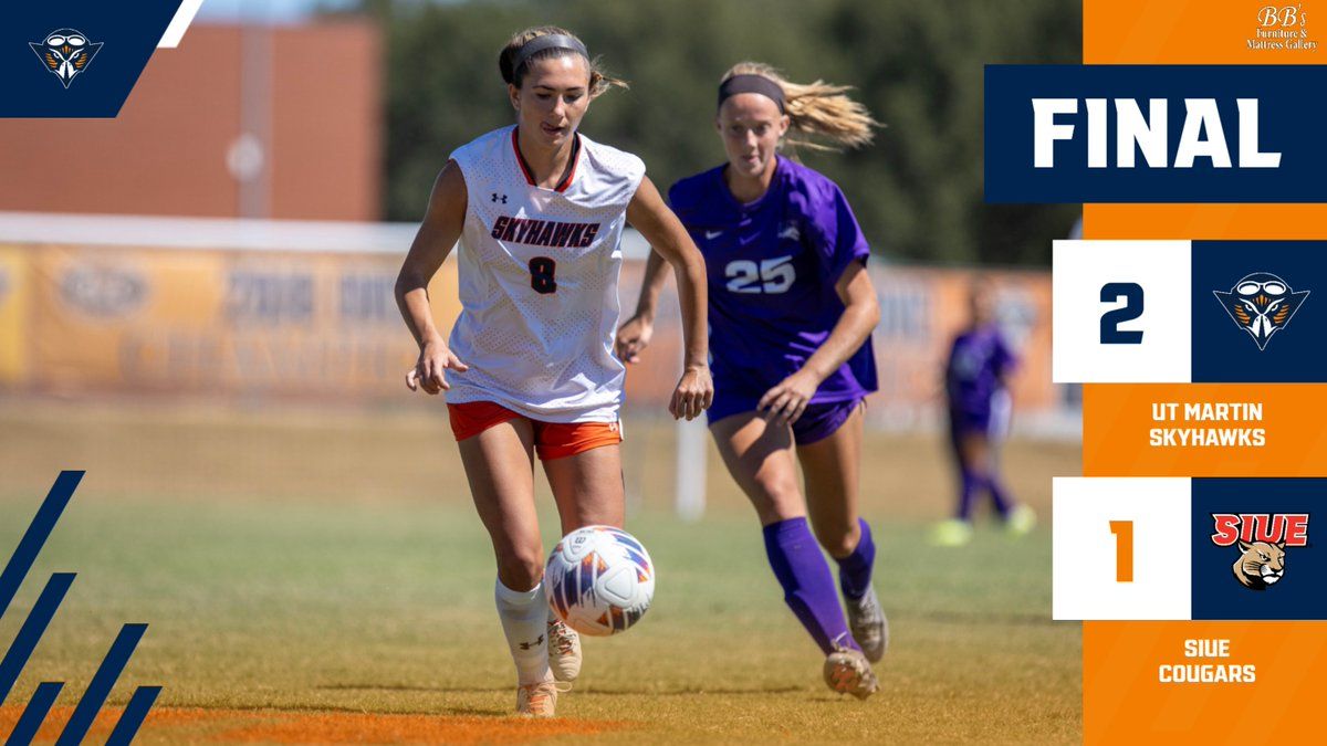
[[[645,616],[654,597],[654,563],[626,531],[587,526],[553,547],[544,583],[557,619],[581,634],[604,637]]]

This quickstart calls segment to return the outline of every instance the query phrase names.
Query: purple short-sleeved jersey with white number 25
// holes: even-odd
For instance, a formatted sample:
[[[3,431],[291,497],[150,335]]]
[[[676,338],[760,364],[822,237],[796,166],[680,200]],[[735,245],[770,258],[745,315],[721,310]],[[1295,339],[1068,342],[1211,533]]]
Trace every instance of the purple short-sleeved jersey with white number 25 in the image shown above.
[[[742,204],[723,166],[679,181],[669,202],[705,255],[717,397],[754,397],[795,373],[843,315],[835,291],[871,248],[839,186],[779,158],[770,188]],[[876,390],[871,340],[816,389],[812,404]]]

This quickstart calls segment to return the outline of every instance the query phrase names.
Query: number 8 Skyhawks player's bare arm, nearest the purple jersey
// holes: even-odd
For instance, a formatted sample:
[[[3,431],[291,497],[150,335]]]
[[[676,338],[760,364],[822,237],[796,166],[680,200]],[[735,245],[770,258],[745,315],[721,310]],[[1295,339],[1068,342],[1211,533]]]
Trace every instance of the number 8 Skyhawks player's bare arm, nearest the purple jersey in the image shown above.
[[[641,179],[626,219],[645,236],[658,255],[673,265],[677,276],[677,295],[682,304],[682,338],[686,350],[682,378],[673,392],[669,411],[673,417],[693,419],[709,409],[714,398],[710,380],[709,338],[706,324],[705,260],[691,243],[682,222],[664,204],[654,183]],[[660,280],[662,281],[662,280]]]

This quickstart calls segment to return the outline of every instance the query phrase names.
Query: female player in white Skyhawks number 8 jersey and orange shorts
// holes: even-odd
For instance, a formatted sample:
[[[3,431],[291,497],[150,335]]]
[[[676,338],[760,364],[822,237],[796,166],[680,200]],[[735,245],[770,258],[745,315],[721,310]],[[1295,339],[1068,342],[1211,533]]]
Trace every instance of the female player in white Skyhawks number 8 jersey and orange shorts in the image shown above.
[[[498,66],[516,125],[451,153],[395,292],[419,344],[406,385],[447,392],[470,490],[492,539],[516,709],[548,717],[555,678],[580,670],[580,642],[552,619],[541,584],[533,454],[563,534],[622,526],[625,369],[613,356],[622,227],[630,222],[677,269],[686,360],[669,410],[687,419],[713,396],[705,264],[641,159],[576,131],[589,102],[622,85],[596,69],[579,38],[555,27],[524,31]],[[462,312],[443,341],[427,287],[458,239]]]

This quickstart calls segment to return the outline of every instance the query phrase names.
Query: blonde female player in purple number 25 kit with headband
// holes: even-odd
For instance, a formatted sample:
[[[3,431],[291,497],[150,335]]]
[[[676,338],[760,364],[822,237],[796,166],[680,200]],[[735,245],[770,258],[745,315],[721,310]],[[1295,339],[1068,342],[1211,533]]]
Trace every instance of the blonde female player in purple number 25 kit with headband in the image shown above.
[[[869,340],[880,319],[871,250],[839,187],[778,153],[790,129],[871,142],[876,122],[844,90],[795,85],[768,65],[734,66],[715,122],[727,162],[682,179],[669,200],[709,276],[710,433],[764,526],[784,600],[825,654],[825,681],[865,698],[877,688],[871,662],[888,642],[871,585],[874,544],[857,516],[863,400],[876,390]],[[662,267],[652,254],[636,316],[618,329],[628,362],[649,344]],[[839,564],[847,620],[821,546]]]

